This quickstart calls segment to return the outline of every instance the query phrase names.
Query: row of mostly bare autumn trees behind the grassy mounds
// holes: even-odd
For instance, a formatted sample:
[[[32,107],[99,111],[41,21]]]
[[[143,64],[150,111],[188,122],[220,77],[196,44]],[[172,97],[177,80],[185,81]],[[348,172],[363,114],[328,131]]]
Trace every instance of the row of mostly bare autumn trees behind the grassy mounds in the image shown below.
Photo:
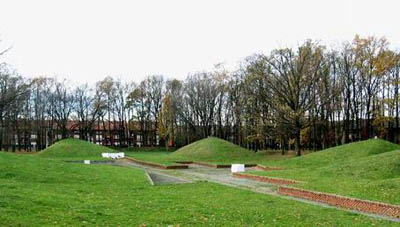
[[[118,146],[127,145],[132,125],[145,146],[157,136],[167,147],[216,136],[255,151],[301,155],[373,137],[398,143],[399,74],[400,53],[385,38],[359,36],[333,49],[308,40],[249,56],[233,71],[216,65],[184,80],[106,77],[68,86],[57,78],[23,78],[2,64],[0,147],[26,149],[23,138],[34,132],[43,149],[56,133],[71,136],[71,121],[86,140],[99,122],[109,134],[117,124]]]

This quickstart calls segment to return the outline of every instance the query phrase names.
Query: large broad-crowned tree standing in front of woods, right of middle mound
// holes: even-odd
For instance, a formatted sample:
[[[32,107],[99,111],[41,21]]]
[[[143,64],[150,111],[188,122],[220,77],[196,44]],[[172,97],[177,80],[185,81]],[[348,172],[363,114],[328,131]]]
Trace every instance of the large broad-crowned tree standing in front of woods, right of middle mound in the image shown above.
[[[310,124],[310,111],[317,104],[313,92],[321,79],[323,47],[306,42],[295,52],[292,49],[273,51],[266,58],[268,78],[265,80],[271,92],[270,106],[277,112],[276,120],[291,127],[295,150],[300,151],[301,130]]]

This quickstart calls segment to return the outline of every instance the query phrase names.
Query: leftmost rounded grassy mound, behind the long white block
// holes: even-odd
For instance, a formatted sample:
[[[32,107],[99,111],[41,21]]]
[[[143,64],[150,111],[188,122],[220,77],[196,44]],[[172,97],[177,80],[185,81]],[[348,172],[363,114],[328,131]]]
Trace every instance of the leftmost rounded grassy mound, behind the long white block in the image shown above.
[[[43,158],[93,160],[102,159],[102,152],[111,153],[116,151],[79,139],[64,139],[41,151],[38,156]]]

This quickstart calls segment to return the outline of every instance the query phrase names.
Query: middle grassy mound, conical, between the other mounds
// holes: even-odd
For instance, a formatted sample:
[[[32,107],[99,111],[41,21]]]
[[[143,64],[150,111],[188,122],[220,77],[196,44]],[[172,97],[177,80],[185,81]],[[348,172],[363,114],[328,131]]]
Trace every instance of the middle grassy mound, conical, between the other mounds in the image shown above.
[[[170,155],[170,158],[187,161],[206,161],[231,163],[246,162],[257,158],[250,150],[230,143],[226,140],[209,137],[180,148]]]

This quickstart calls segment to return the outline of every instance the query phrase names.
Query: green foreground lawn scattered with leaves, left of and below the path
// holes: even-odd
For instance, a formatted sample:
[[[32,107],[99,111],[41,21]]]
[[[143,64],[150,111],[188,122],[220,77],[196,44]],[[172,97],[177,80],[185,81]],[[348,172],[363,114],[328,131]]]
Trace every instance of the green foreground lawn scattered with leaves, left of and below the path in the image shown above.
[[[200,182],[151,186],[141,170],[0,152],[0,226],[395,226]]]

